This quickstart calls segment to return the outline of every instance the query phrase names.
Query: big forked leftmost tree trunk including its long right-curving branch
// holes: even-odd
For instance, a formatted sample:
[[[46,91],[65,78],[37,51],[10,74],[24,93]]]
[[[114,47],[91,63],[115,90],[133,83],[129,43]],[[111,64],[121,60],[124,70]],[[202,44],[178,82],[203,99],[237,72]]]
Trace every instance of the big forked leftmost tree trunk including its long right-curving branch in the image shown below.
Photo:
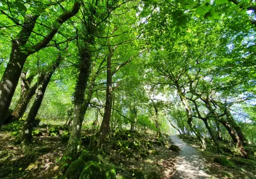
[[[39,17],[39,15],[24,15],[24,25],[22,26],[22,29],[18,35],[12,40],[10,61],[6,66],[0,82],[0,128],[6,119],[14,91],[17,87],[19,77],[26,59],[29,55],[45,48],[47,44],[51,42],[54,35],[56,35],[61,25],[76,15],[76,13],[79,11],[79,8],[80,3],[75,1],[72,10],[64,12],[60,15],[60,17],[56,19],[54,26],[52,26],[52,31],[47,36],[45,36],[42,41],[36,43],[32,47],[29,47],[29,49],[22,50],[24,45],[28,42],[29,37],[31,36],[31,33],[35,27],[36,19]],[[56,26],[56,24],[60,26]]]

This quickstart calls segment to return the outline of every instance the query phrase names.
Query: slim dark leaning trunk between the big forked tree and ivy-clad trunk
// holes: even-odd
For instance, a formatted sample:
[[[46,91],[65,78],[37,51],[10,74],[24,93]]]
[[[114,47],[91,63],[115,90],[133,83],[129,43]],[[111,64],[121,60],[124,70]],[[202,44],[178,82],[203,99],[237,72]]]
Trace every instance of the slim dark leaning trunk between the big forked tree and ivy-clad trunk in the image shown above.
[[[34,122],[36,115],[38,113],[38,110],[42,104],[42,100],[44,98],[46,88],[51,80],[52,74],[54,73],[56,68],[60,65],[60,62],[61,62],[61,57],[60,57],[60,55],[58,55],[56,62],[52,65],[52,69],[45,74],[44,79],[38,86],[38,89],[36,91],[35,101],[28,113],[28,118],[26,119],[26,122],[24,123],[23,128],[22,128],[22,132],[20,134],[20,142],[21,143],[24,143],[24,144],[31,143],[33,122]]]

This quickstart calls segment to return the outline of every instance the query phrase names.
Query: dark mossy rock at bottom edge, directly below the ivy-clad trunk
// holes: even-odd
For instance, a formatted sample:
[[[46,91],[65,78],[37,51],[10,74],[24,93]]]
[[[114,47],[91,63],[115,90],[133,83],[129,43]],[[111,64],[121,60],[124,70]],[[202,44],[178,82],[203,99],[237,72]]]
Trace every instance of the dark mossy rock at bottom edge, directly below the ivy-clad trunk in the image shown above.
[[[74,162],[72,162],[72,164],[70,164],[63,178],[67,178],[67,179],[79,178],[85,166],[86,166],[86,162],[84,162],[84,160],[82,159],[75,160]]]

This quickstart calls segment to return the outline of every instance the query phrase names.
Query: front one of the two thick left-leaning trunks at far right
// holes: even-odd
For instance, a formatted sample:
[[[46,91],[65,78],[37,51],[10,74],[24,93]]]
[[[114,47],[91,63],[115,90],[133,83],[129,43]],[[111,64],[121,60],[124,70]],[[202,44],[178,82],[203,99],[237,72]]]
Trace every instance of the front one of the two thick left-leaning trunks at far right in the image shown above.
[[[248,158],[248,153],[245,152],[243,143],[242,141],[240,141],[239,136],[236,134],[236,131],[234,130],[232,125],[230,125],[228,121],[223,120],[223,118],[220,118],[219,121],[227,129],[228,134],[232,138],[232,141],[234,142],[235,146],[239,149],[239,152],[241,152],[244,158]]]

